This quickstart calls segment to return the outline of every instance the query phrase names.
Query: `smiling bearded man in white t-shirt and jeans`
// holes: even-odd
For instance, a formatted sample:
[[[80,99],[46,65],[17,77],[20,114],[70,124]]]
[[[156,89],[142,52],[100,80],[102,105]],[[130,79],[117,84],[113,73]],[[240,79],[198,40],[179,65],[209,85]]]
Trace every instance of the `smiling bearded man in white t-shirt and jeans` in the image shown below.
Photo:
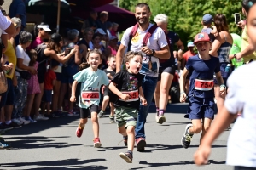
[[[131,42],[131,51],[143,52],[143,68],[140,73],[144,75],[143,78],[143,93],[148,102],[147,106],[140,105],[140,110],[137,116],[136,127],[136,144],[137,150],[143,151],[146,146],[144,124],[148,116],[148,108],[154,95],[154,88],[156,87],[159,72],[159,59],[169,59],[171,54],[168,43],[166,41],[165,32],[161,28],[156,28],[152,37],[149,37],[147,45],[143,46],[143,37],[146,35],[148,29],[153,26],[149,23],[151,12],[147,3],[138,3],[135,8],[135,17],[138,23],[137,34],[130,39],[132,27],[128,28],[121,40],[118,53],[116,55],[116,69],[117,72],[121,68],[121,60],[125,54],[125,50]]]

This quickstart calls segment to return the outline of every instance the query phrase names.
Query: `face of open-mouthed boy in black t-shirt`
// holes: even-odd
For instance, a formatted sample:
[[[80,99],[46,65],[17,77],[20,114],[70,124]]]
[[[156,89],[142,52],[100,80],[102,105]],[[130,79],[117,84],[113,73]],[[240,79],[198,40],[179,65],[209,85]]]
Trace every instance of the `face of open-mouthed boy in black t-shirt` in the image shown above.
[[[127,71],[137,74],[142,68],[142,62],[142,56],[135,55],[129,62],[126,62]]]

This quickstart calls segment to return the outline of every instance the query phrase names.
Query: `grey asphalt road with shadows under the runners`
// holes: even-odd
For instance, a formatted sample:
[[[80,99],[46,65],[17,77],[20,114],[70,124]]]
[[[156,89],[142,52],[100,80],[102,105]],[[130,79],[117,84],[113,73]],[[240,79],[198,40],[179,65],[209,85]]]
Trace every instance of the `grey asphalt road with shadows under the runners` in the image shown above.
[[[189,119],[183,118],[187,104],[168,105],[166,123],[154,122],[154,105],[146,123],[147,147],[145,152],[133,153],[133,163],[119,157],[125,152],[122,136],[108,116],[100,119],[102,148],[93,148],[93,133],[89,121],[83,136],[77,138],[75,130],[79,116],[65,116],[28,124],[2,135],[13,149],[0,150],[0,169],[173,169],[173,170],[231,170],[225,165],[225,131],[212,145],[210,165],[197,167],[193,155],[200,135],[194,135],[189,149],[183,149],[181,137]]]

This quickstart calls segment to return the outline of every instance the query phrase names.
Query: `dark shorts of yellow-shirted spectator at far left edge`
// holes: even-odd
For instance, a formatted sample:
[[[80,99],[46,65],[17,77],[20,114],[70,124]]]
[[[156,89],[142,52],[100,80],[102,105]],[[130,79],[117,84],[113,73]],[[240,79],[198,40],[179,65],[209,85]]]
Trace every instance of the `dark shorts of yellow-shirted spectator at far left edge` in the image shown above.
[[[7,79],[7,91],[2,94],[1,98],[1,107],[4,105],[14,105],[15,103],[15,88],[13,85],[13,81],[11,78],[6,78]]]

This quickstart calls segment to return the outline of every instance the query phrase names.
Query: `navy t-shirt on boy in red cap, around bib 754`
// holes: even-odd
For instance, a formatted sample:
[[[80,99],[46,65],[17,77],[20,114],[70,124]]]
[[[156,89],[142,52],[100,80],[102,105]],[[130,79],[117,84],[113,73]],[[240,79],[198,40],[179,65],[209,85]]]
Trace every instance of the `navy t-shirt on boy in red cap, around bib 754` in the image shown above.
[[[213,98],[214,90],[201,91],[195,89],[195,79],[213,80],[213,74],[220,71],[219,59],[211,56],[209,60],[200,59],[198,55],[189,57],[186,69],[191,72],[189,96],[194,95],[198,98]]]

